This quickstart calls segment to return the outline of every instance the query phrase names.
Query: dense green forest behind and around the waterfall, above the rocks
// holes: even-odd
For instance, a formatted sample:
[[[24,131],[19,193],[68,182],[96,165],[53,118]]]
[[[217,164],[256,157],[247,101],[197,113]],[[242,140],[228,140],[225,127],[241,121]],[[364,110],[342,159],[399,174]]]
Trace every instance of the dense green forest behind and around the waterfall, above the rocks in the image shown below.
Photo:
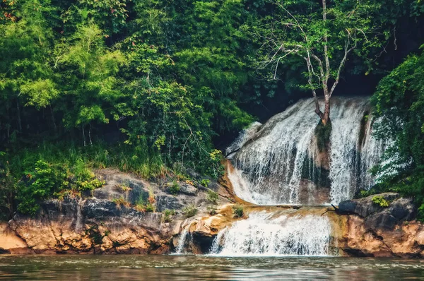
[[[411,196],[424,217],[422,0],[3,0],[0,10],[4,219],[101,186],[96,168],[217,179],[240,130],[316,97],[325,131],[336,95],[370,96],[375,137],[392,140],[361,194]]]

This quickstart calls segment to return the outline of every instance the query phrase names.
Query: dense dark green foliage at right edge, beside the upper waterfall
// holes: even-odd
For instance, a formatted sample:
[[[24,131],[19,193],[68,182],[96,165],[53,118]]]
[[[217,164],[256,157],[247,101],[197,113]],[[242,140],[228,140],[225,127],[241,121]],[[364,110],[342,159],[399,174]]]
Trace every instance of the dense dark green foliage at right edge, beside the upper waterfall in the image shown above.
[[[424,218],[424,53],[406,61],[384,77],[373,96],[377,136],[391,140],[385,160],[375,173],[376,191],[412,196]]]

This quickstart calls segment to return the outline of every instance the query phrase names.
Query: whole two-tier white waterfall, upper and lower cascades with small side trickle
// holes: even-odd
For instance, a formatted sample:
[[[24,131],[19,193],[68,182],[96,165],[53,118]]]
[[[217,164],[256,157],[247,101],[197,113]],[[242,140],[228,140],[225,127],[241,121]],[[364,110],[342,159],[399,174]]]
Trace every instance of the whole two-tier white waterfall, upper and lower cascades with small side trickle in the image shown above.
[[[322,205],[338,204],[372,186],[368,171],[378,163],[385,144],[372,138],[375,120],[367,99],[334,98],[330,119],[328,145],[316,133],[312,99],[300,100],[266,124],[254,123],[243,131],[226,151],[235,194],[259,205]],[[317,210],[251,211],[218,232],[211,254],[331,256],[336,246],[331,239],[334,217]],[[177,253],[182,253],[188,235],[182,232]]]

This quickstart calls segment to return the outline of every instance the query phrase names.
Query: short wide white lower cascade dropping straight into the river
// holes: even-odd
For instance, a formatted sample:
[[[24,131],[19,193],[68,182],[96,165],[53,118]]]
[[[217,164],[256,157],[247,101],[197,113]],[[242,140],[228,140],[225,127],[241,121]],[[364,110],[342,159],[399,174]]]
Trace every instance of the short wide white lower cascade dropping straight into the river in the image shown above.
[[[331,225],[327,217],[288,217],[252,213],[221,230],[212,254],[220,256],[329,256]]]

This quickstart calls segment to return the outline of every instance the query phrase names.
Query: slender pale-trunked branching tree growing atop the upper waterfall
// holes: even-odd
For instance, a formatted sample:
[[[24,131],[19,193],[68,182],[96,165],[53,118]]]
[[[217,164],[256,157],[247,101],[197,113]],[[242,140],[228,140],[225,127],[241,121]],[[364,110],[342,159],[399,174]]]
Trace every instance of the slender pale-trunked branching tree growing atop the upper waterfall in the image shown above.
[[[341,72],[351,54],[366,57],[370,49],[379,47],[379,26],[372,16],[379,11],[375,1],[274,2],[273,15],[264,18],[256,36],[263,43],[262,66],[300,64],[315,100],[315,112],[324,126],[329,123],[330,99]],[[289,61],[290,59],[290,61]],[[324,95],[324,112],[319,107],[318,90]]]

